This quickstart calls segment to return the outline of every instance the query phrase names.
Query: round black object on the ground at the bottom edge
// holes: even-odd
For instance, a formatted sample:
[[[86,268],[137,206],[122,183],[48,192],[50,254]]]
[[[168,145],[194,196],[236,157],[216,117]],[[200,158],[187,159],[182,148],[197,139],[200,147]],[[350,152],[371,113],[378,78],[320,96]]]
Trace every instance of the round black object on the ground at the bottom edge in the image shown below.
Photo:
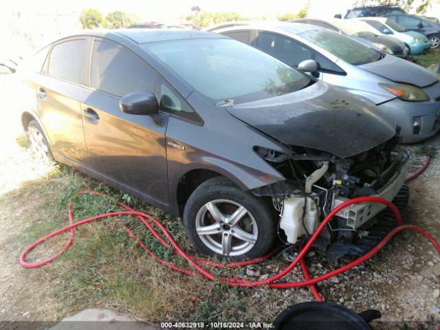
[[[276,330],[371,330],[369,322],[380,316],[380,311],[356,314],[341,305],[311,301],[285,309],[273,325]]]

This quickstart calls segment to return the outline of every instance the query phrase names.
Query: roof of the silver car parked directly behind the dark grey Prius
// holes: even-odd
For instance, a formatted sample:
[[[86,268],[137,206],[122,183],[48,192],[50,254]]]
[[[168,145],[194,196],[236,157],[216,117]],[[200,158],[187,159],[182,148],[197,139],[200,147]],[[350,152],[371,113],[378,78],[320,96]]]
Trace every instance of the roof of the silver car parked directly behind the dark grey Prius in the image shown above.
[[[295,22],[280,22],[280,21],[240,21],[230,22],[216,25],[213,28],[209,28],[208,31],[220,32],[220,30],[228,30],[228,28],[247,28],[250,30],[264,29],[266,31],[285,30],[292,34],[298,34],[301,32],[307,32],[312,30],[322,29],[316,25],[310,25],[305,23]],[[232,29],[234,30],[234,29]]]

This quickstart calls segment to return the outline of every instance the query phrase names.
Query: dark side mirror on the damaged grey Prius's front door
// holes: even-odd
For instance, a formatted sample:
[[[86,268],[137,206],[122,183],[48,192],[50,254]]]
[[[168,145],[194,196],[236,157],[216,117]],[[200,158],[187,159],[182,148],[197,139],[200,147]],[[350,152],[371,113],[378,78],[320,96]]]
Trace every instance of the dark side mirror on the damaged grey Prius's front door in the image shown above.
[[[119,101],[119,107],[129,115],[154,115],[159,112],[157,98],[149,91],[126,94]]]

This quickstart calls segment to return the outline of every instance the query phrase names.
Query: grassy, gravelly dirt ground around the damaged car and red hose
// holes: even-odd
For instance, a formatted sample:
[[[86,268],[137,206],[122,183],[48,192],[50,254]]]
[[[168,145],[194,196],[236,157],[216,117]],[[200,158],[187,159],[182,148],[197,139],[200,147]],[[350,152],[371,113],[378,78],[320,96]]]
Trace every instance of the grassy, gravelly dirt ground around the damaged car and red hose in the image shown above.
[[[78,231],[74,239],[76,248],[59,261],[38,270],[21,267],[19,254],[25,246],[67,224],[65,201],[77,188],[98,186],[104,191],[108,188],[74,170],[36,162],[22,147],[17,115],[20,109],[28,107],[29,98],[23,96],[21,84],[12,75],[0,76],[0,90],[7,105],[3,106],[0,120],[0,321],[12,322],[9,325],[21,320],[47,321],[38,325],[43,329],[85,307],[111,307],[135,319],[149,321],[238,321],[243,315],[252,320],[270,321],[289,305],[313,300],[306,288],[229,289],[218,283],[176,275],[148,261],[141,252],[136,252],[138,249],[125,252],[133,244],[117,224],[110,222]],[[437,135],[426,143],[440,146],[440,137]],[[408,146],[410,171],[423,162],[423,156],[415,152],[417,148],[417,145]],[[437,156],[428,170],[410,183],[406,221],[420,225],[440,240],[439,206],[440,156]],[[170,221],[166,214],[148,211]],[[100,247],[101,241],[109,237],[102,236],[103,230],[112,239],[115,237],[105,248]],[[179,228],[175,234],[184,236]],[[181,240],[186,243],[184,238]],[[63,239],[46,245],[46,251],[38,256],[53,254],[62,243]],[[92,255],[87,251],[89,248],[96,249]],[[312,254],[307,261],[311,276],[335,267]],[[250,278],[262,278],[285,265],[277,260],[246,267],[242,272]],[[122,276],[122,281],[118,276]],[[131,281],[130,276],[135,276],[132,286],[126,284]],[[298,270],[286,278],[300,279]],[[355,311],[380,310],[382,318],[375,323],[375,329],[419,329],[420,326],[431,329],[440,324],[439,280],[440,259],[432,246],[419,234],[404,232],[362,267],[320,283],[318,290],[327,301]],[[141,283],[141,287],[136,283]]]

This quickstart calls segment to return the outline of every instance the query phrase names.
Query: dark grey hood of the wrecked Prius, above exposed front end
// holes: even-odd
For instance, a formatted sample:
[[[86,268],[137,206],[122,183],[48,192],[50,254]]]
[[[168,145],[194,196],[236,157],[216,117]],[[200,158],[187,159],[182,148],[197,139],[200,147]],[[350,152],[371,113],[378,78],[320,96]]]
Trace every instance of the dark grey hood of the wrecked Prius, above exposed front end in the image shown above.
[[[225,109],[284,144],[315,148],[342,158],[369,150],[395,135],[395,121],[373,103],[322,82]]]

